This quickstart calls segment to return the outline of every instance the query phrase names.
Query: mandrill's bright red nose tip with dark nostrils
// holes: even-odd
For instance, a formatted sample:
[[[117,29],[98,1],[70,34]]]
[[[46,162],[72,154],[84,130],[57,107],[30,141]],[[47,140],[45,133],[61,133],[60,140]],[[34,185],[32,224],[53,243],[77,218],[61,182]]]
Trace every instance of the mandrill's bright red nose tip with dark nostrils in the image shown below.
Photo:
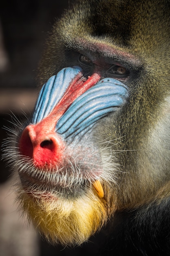
[[[43,124],[29,125],[20,138],[20,152],[33,159],[37,167],[56,166],[62,162],[64,143],[56,132]]]

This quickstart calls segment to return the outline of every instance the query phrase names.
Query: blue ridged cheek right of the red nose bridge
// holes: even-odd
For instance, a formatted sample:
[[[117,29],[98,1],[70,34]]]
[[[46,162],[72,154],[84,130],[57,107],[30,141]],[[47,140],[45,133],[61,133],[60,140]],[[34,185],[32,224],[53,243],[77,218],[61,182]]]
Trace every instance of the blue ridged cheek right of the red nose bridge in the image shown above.
[[[87,132],[96,121],[115,112],[128,97],[126,85],[113,78],[105,78],[78,97],[59,119],[56,132],[71,139]]]

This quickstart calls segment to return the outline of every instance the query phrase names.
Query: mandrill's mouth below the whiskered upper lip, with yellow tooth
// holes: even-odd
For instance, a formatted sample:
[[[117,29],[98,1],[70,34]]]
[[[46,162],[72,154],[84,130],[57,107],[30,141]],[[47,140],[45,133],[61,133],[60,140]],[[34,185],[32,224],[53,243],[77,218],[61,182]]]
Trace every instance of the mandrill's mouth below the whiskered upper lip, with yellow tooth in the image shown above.
[[[20,173],[20,180],[24,191],[33,198],[46,198],[54,199],[57,198],[77,198],[82,196],[83,193],[86,193],[86,190],[93,190],[99,198],[104,197],[104,189],[100,180],[89,181],[85,180],[84,182],[76,182],[71,184],[68,181],[57,182],[56,184],[46,183],[46,179],[51,179],[45,177],[43,180],[40,180],[38,177],[33,177],[27,173]]]

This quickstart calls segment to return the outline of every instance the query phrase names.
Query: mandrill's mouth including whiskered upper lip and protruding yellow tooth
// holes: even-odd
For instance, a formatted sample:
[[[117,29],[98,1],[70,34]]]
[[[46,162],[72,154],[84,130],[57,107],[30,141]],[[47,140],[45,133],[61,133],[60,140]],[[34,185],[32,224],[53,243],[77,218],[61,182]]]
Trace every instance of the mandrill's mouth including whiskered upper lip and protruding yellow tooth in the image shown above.
[[[49,165],[38,168],[31,159],[28,162],[25,157],[19,158],[22,168],[18,173],[22,187],[33,197],[73,199],[81,197],[88,190],[93,191],[99,198],[104,197],[104,189],[100,182],[102,170],[97,170],[97,164],[82,164],[79,161],[75,162],[75,159],[72,162],[67,159],[55,168]]]

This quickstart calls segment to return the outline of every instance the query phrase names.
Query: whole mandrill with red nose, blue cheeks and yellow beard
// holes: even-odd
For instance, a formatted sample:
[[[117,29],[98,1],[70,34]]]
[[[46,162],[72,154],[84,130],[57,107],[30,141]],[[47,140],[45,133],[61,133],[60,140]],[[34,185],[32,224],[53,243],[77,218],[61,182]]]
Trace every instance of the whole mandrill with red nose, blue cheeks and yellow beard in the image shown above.
[[[4,153],[29,220],[72,246],[109,220],[102,255],[170,255],[170,1],[76,1],[38,70]]]

